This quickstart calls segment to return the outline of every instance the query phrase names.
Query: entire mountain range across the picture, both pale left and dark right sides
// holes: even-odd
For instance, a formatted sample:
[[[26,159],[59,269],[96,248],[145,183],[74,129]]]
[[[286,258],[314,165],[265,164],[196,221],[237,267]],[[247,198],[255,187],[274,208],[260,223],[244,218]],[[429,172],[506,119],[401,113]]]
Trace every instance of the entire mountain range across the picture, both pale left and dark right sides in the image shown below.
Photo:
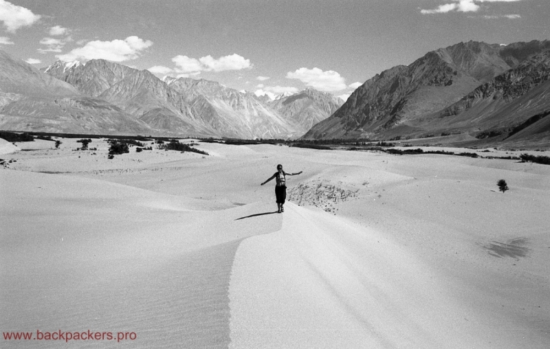
[[[549,77],[550,41],[470,41],[382,71],[346,102],[310,88],[268,100],[107,60],[40,71],[0,51],[0,128],[246,139],[460,134],[478,144],[550,144]]]

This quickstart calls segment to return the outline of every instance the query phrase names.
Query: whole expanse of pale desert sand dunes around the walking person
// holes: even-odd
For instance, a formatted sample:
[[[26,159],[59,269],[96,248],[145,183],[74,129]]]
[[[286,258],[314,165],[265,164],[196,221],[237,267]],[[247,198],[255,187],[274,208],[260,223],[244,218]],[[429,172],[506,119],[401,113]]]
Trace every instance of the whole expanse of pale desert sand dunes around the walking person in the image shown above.
[[[550,166],[62,141],[0,143],[0,328],[137,337],[2,348],[548,348]]]

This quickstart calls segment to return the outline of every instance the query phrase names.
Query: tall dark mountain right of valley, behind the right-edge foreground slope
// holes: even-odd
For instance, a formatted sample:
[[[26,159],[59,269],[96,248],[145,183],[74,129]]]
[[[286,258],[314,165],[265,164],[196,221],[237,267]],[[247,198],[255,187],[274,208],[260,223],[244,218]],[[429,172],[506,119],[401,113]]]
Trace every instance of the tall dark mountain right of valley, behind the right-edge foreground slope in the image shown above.
[[[419,122],[459,102],[476,87],[517,67],[550,41],[508,46],[470,41],[437,49],[408,66],[397,66],[367,80],[336,113],[304,138],[366,138],[430,133]]]

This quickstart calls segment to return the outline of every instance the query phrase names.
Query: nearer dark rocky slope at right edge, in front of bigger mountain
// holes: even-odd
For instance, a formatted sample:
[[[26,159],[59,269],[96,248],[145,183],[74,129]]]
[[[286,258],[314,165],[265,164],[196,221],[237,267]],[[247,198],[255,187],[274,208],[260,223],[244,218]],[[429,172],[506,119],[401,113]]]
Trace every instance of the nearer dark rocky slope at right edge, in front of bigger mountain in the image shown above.
[[[505,71],[477,87],[459,102],[428,117],[423,124],[432,128],[480,131],[478,137],[500,136],[503,140],[518,133],[518,126],[531,120],[531,131],[537,131],[550,113],[550,50],[527,58],[516,68]],[[472,123],[475,120],[475,123]],[[422,125],[419,125],[422,126]],[[542,127],[534,132],[540,137]],[[534,133],[522,132],[523,137]],[[512,139],[518,139],[515,135]]]

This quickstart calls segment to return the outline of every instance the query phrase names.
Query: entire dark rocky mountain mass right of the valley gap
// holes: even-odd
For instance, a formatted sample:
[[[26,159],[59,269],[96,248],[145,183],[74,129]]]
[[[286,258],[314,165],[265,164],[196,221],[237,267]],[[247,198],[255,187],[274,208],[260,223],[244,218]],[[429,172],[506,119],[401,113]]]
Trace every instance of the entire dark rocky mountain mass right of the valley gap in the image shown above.
[[[428,52],[364,82],[303,138],[472,133],[503,135],[503,141],[514,127],[550,110],[549,50],[550,41],[470,41]]]

